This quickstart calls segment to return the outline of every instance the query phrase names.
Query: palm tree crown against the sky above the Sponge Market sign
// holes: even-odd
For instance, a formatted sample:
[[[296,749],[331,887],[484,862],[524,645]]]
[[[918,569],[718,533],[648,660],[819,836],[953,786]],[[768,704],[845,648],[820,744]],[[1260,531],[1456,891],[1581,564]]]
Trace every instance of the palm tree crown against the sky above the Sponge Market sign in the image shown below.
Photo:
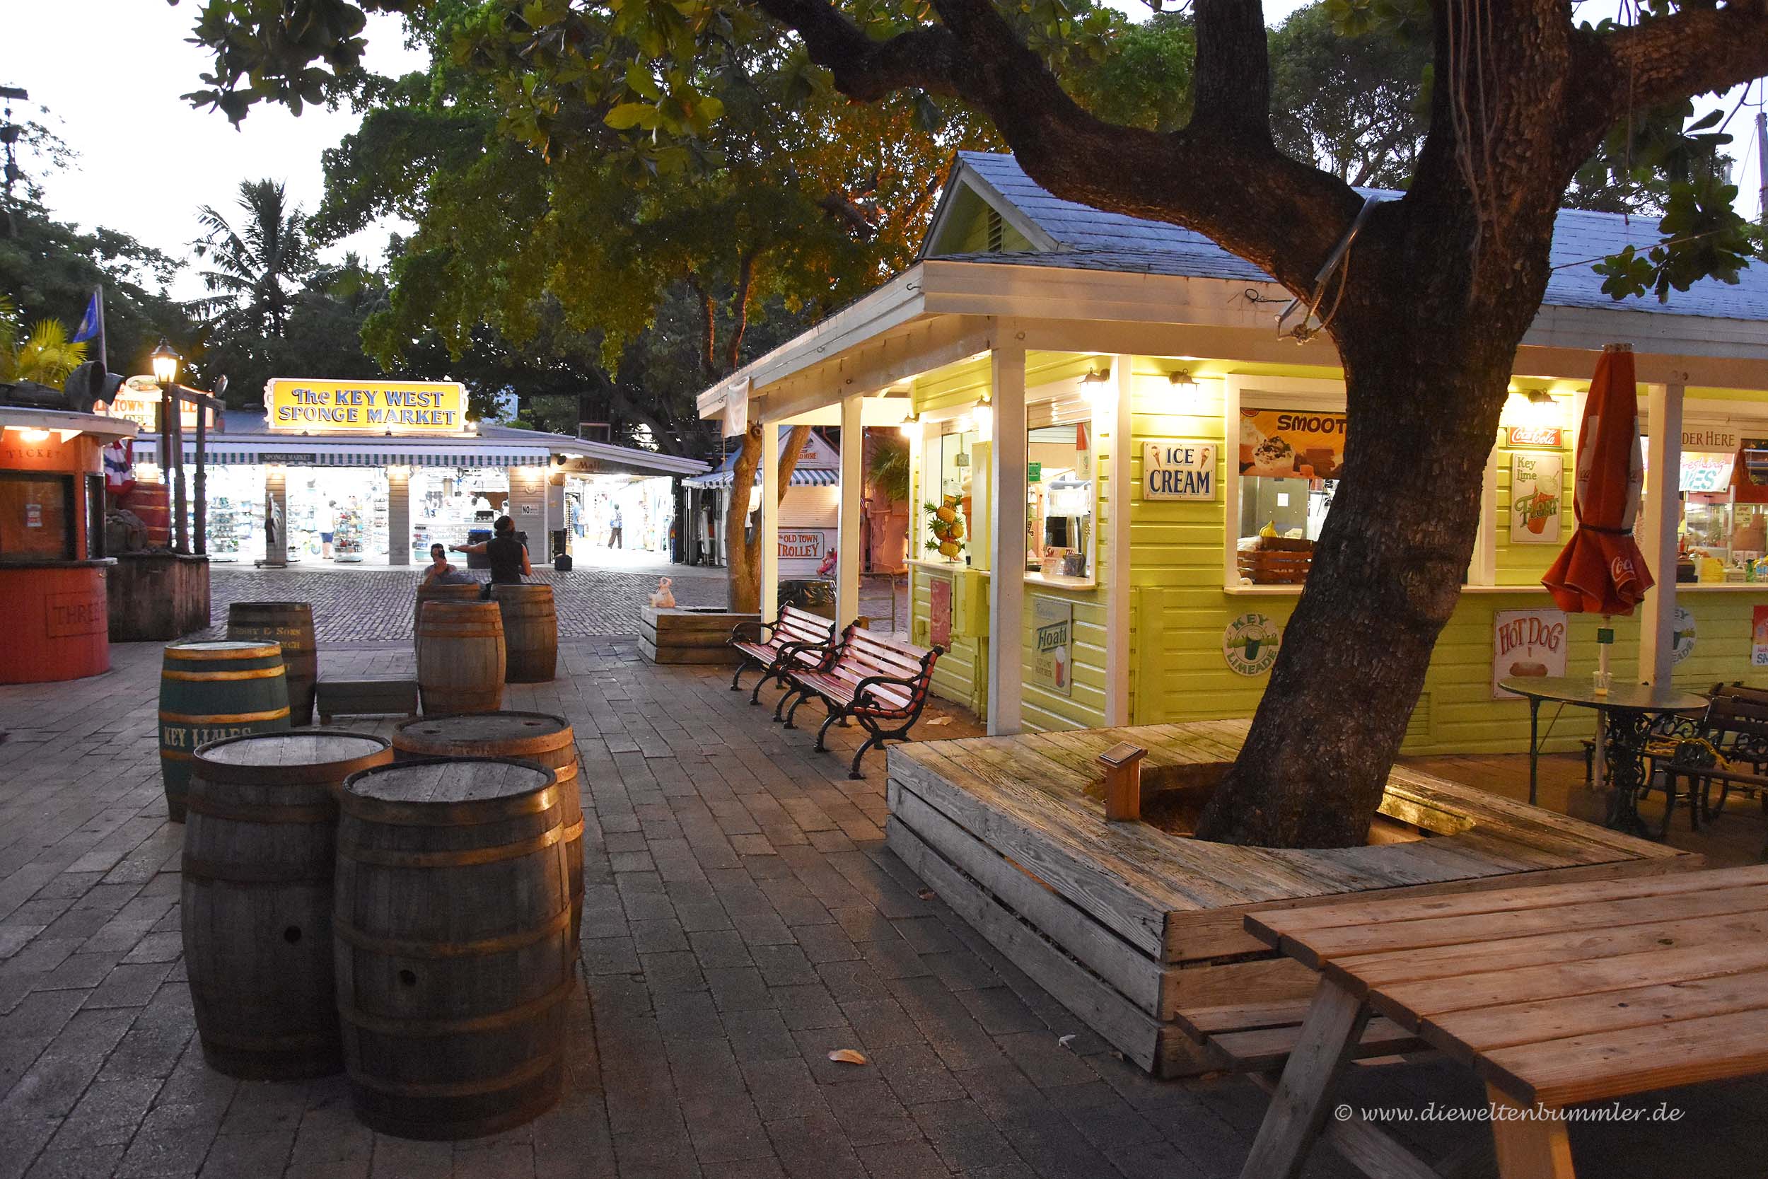
[[[278,180],[240,180],[239,207],[246,217],[237,230],[212,205],[198,210],[196,256],[212,263],[198,274],[214,293],[191,306],[223,331],[281,336],[313,269],[308,217]]]

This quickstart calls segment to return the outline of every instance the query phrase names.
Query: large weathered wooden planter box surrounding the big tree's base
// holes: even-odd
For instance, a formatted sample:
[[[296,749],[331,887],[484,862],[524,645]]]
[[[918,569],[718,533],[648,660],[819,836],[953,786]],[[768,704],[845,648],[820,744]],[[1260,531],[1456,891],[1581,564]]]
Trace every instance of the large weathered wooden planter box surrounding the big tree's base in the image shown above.
[[[1248,912],[1678,871],[1699,856],[1395,769],[1400,843],[1284,850],[1105,822],[1098,755],[1147,749],[1151,781],[1232,760],[1246,721],[969,737],[889,751],[889,847],[1013,965],[1160,1076],[1222,1068],[1174,1023],[1301,999],[1317,976],[1245,933]],[[1395,836],[1404,829],[1404,836]]]

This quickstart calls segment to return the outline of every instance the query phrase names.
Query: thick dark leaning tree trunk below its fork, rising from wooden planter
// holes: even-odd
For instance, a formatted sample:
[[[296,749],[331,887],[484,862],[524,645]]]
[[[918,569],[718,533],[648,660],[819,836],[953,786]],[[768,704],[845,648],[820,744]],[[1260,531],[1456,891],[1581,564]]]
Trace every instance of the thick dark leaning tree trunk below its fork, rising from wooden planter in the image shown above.
[[[1379,387],[1388,412],[1351,415],[1307,589],[1199,838],[1363,843],[1460,596],[1508,377],[1505,361],[1429,348],[1347,369],[1347,385]]]

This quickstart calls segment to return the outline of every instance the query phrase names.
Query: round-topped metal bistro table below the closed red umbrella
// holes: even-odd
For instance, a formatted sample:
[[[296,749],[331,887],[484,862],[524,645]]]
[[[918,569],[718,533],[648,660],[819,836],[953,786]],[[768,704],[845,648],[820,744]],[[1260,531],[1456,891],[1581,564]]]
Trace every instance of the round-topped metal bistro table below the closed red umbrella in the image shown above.
[[[1639,795],[1646,787],[1646,730],[1667,712],[1699,712],[1706,707],[1706,696],[1665,684],[1614,684],[1598,696],[1588,675],[1513,675],[1497,686],[1529,700],[1529,804],[1535,804],[1538,785],[1542,700],[1595,709],[1602,725],[1602,757],[1609,781],[1607,825],[1646,836],[1646,824],[1639,818]]]

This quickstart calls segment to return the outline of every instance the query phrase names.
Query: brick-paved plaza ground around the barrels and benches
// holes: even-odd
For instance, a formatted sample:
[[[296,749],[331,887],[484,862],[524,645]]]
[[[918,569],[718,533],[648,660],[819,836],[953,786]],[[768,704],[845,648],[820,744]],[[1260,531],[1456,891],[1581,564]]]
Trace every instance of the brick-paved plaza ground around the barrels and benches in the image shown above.
[[[568,640],[559,681],[506,696],[576,728],[587,988],[559,1108],[460,1144],[362,1130],[341,1076],[242,1084],[203,1066],[154,748],[157,647],[115,647],[95,681],[0,688],[0,1179],[1238,1174],[1266,1103],[1252,1084],[1124,1064],[921,894],[882,845],[880,760],[845,778],[850,734],[813,753],[813,734],[769,725],[720,672],[652,668],[635,647]],[[322,650],[331,675],[408,666],[405,647]],[[969,734],[964,716],[919,728]],[[1353,1073],[1363,1105],[1480,1099],[1443,1064]],[[1768,1085],[1662,1099],[1687,1117],[1574,1126],[1581,1174],[1768,1174]],[[1414,1137],[1441,1156],[1478,1135]],[[1308,1174],[1354,1172],[1321,1147]]]

